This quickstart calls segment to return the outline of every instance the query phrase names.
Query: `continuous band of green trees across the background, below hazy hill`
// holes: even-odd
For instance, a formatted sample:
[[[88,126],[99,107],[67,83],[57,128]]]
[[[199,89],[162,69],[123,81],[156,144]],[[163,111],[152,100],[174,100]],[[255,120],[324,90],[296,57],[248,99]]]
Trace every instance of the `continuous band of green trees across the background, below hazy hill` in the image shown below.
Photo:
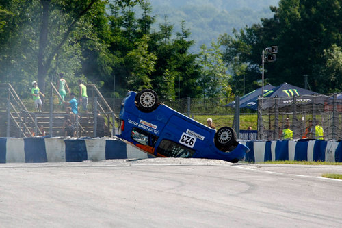
[[[265,64],[265,83],[302,86],[309,75],[315,92],[339,92],[341,4],[280,0],[270,8],[272,18],[233,29],[192,53],[191,24],[175,25],[165,16],[155,25],[147,0],[0,1],[0,82],[29,97],[31,81],[38,79],[47,93],[44,87],[63,72],[74,92],[81,78],[105,97],[153,88],[170,100],[227,98],[261,86],[261,52],[277,45],[276,62]],[[209,11],[201,13],[198,20]]]

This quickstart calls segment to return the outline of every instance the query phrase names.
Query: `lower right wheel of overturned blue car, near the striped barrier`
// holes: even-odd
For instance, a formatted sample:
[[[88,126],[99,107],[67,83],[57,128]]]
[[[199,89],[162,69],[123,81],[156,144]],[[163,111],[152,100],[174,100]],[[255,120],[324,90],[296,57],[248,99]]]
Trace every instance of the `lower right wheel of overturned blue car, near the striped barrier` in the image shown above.
[[[229,147],[237,143],[237,136],[233,128],[221,127],[216,131],[214,141],[218,149],[226,151]]]

